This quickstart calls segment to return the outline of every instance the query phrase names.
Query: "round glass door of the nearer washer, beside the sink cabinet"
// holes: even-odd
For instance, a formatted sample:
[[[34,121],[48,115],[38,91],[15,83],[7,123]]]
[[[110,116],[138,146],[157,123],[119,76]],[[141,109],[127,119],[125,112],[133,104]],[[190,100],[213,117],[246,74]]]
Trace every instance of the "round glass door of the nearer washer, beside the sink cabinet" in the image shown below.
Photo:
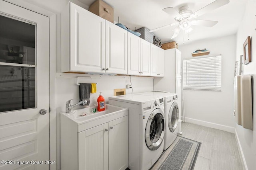
[[[156,150],[164,139],[164,113],[157,108],[150,114],[145,129],[145,141],[148,149]]]

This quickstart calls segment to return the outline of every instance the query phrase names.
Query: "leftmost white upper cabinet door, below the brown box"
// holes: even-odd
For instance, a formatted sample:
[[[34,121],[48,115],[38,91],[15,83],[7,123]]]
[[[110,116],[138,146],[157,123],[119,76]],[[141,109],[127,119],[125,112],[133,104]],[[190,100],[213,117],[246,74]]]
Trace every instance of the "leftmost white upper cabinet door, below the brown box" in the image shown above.
[[[70,71],[105,72],[105,20],[73,3],[69,57]]]

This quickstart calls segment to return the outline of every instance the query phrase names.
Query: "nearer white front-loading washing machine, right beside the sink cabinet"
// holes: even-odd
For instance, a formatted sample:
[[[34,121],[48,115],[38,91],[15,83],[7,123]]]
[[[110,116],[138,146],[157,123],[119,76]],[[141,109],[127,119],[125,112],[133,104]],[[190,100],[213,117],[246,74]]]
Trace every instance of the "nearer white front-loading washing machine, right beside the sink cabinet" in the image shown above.
[[[164,150],[164,100],[128,94],[109,97],[108,103],[128,108],[129,169],[148,170]]]

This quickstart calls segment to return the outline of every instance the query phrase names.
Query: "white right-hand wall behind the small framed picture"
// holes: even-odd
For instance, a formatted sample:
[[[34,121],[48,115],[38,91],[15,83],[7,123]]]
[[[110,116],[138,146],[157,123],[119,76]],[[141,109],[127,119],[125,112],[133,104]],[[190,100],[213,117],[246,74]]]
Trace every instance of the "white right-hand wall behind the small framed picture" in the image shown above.
[[[244,155],[248,170],[256,169],[256,1],[248,1],[240,27],[236,34],[236,60],[244,55],[243,44],[248,36],[251,37],[252,62],[244,65],[244,74],[253,76],[253,131],[244,129],[236,124],[235,129]]]

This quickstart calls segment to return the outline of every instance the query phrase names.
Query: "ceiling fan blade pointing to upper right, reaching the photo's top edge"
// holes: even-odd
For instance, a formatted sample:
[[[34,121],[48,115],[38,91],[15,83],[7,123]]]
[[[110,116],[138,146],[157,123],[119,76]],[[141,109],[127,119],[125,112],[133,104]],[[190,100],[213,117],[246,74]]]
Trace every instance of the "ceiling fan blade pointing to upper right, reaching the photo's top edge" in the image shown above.
[[[215,10],[216,8],[219,8],[223,5],[226,5],[229,3],[229,0],[216,0],[212,2],[211,4],[208,4],[204,8],[201,8],[200,10],[196,11],[196,17],[201,16],[209,11]]]

